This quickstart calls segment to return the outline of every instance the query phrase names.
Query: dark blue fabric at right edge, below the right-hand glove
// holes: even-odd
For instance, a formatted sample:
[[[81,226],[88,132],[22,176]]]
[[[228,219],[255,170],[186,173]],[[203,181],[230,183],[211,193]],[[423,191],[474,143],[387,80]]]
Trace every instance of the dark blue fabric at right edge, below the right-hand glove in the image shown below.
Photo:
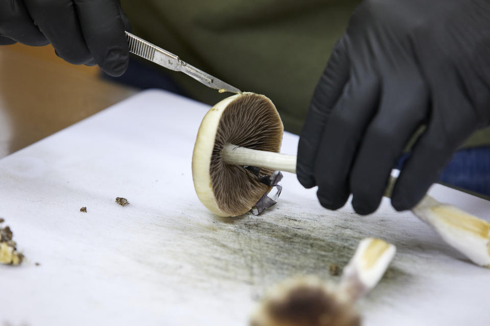
[[[403,166],[403,156],[397,169]],[[454,153],[439,176],[439,182],[490,196],[490,146],[462,149]]]

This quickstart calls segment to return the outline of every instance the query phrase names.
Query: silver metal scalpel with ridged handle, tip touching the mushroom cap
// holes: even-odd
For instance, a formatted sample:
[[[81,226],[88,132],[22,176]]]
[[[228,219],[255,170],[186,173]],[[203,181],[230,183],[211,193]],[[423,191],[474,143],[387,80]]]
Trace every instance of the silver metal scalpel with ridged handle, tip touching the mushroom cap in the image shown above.
[[[168,52],[167,50],[147,42],[129,32],[126,32],[126,37],[128,38],[129,51],[141,58],[153,61],[170,70],[181,71],[207,87],[232,93],[241,93],[236,87],[182,61],[178,56],[174,55],[174,53]]]

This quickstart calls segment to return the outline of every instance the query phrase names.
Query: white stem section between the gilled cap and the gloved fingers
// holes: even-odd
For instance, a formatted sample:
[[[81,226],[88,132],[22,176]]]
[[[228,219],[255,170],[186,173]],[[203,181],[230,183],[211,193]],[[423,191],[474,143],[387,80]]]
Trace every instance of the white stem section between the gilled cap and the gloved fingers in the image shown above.
[[[295,155],[259,151],[232,144],[225,144],[221,151],[221,158],[225,164],[252,166],[296,174]]]

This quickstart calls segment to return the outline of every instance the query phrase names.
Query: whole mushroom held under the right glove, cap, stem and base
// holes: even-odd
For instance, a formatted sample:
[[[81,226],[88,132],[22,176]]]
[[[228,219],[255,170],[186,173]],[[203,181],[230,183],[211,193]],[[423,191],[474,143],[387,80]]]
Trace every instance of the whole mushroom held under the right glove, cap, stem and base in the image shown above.
[[[249,211],[271,187],[244,167],[262,173],[296,173],[296,156],[280,154],[283,126],[271,100],[242,93],[228,97],[204,117],[192,156],[192,176],[201,202],[220,216]],[[396,178],[390,178],[385,196]],[[490,267],[490,223],[426,195],[412,213],[474,263]]]

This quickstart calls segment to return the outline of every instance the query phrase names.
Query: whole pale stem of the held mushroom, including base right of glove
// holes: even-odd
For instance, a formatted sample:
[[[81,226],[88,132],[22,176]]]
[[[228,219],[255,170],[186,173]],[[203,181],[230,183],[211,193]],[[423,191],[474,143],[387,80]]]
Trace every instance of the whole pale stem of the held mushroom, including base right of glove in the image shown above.
[[[226,144],[221,152],[223,162],[296,173],[296,156],[259,151]],[[396,178],[391,177],[385,192],[390,197]],[[455,206],[443,204],[429,195],[411,209],[430,225],[451,247],[475,264],[490,268],[490,223]]]

